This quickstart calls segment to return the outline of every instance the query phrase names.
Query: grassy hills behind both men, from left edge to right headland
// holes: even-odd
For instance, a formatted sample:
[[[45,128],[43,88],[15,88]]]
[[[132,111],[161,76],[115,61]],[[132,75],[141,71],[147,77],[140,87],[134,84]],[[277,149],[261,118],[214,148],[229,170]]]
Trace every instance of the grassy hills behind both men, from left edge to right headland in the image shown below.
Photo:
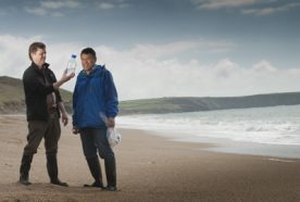
[[[61,89],[65,108],[72,114],[72,92]],[[300,92],[221,98],[159,98],[122,101],[120,114],[180,113],[209,110],[263,108],[300,104]],[[25,113],[21,79],[0,76],[0,114]]]

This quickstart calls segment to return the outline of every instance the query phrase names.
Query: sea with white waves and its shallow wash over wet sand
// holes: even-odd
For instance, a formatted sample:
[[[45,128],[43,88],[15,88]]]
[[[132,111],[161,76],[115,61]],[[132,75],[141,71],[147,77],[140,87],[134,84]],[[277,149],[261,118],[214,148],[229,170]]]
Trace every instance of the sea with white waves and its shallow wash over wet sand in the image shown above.
[[[218,144],[211,151],[300,159],[300,105],[127,115],[117,125]]]

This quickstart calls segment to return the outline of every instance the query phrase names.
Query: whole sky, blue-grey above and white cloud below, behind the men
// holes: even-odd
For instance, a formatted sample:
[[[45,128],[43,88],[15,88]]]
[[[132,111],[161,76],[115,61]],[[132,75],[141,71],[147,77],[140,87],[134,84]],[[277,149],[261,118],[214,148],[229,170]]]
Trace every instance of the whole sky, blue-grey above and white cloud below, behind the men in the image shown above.
[[[0,0],[0,76],[43,41],[58,78],[93,48],[120,100],[300,91],[299,22],[300,0]]]

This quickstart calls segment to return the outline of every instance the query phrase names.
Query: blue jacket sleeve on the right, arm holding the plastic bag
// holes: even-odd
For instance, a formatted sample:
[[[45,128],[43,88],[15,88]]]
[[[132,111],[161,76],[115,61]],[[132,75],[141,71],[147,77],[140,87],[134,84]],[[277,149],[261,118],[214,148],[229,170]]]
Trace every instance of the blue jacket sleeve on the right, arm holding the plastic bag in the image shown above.
[[[109,71],[105,71],[104,76],[104,98],[107,106],[107,116],[115,117],[118,113],[118,100],[117,92],[113,81],[112,74]]]

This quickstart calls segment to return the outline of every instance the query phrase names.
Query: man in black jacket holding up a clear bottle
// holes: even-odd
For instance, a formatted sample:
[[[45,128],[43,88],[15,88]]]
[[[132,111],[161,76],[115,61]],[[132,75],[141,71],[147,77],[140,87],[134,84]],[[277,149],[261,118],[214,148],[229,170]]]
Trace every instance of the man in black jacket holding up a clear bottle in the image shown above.
[[[62,123],[67,124],[67,114],[59,91],[59,87],[74,77],[74,73],[63,74],[57,81],[53,72],[46,63],[46,45],[33,42],[28,50],[32,65],[24,72],[23,85],[25,91],[26,113],[28,122],[27,144],[24,148],[20,167],[20,182],[30,185],[28,179],[33,156],[45,138],[47,171],[50,182],[67,187],[58,178],[58,142],[61,136],[60,112]]]

